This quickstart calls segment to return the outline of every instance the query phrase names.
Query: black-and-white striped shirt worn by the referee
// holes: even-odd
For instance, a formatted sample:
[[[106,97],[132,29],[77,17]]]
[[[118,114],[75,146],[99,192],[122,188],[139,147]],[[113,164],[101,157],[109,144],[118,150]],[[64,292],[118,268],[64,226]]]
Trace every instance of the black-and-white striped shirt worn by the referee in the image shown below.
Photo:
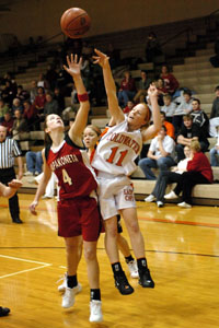
[[[21,154],[15,140],[7,138],[0,142],[0,169],[13,167],[14,156],[21,156]]]

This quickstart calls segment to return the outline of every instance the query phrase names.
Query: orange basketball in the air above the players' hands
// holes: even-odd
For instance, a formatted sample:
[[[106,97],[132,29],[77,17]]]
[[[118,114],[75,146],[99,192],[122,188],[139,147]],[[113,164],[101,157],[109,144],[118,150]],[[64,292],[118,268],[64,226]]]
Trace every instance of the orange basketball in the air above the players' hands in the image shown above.
[[[83,36],[91,26],[91,19],[81,8],[70,8],[60,20],[61,31],[71,38]]]

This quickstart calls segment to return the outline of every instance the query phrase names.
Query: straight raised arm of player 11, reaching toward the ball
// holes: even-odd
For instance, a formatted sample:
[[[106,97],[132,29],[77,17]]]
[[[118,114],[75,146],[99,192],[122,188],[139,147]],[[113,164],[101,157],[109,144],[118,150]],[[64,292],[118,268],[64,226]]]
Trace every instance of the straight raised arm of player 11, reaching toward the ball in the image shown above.
[[[125,119],[124,113],[118,106],[118,99],[116,95],[116,85],[113,79],[113,74],[111,71],[111,66],[108,62],[110,57],[100,50],[94,50],[96,56],[93,56],[94,63],[99,63],[103,69],[103,79],[108,101],[108,109],[111,112],[111,116],[114,119],[115,124],[119,124]]]

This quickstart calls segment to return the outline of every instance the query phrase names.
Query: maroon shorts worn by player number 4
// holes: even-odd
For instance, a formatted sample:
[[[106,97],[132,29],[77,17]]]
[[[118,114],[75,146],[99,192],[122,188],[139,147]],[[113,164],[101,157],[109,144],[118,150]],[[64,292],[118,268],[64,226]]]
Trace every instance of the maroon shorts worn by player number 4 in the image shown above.
[[[58,235],[96,242],[101,232],[101,215],[96,200],[91,197],[58,201]]]

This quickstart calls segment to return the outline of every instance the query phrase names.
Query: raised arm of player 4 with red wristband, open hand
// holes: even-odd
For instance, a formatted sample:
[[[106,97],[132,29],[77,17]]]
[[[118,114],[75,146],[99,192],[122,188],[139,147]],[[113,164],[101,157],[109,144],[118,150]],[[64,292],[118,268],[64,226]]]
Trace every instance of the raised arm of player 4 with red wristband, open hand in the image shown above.
[[[76,120],[69,130],[69,137],[76,144],[82,147],[82,133],[88,124],[88,116],[90,110],[88,93],[81,78],[82,58],[80,58],[80,60],[78,61],[77,55],[71,55],[70,58],[67,56],[67,62],[68,67],[64,66],[64,68],[73,78],[73,82],[80,102],[80,107],[77,113]]]

